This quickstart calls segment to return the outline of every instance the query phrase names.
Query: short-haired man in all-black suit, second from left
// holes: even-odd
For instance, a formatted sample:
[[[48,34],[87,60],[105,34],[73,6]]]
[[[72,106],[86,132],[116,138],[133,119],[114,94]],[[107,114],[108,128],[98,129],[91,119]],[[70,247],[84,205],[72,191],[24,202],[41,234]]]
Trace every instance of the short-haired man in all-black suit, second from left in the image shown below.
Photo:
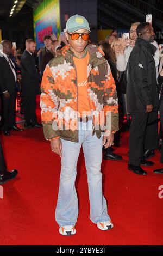
[[[24,96],[25,128],[41,127],[36,119],[36,95],[40,94],[41,76],[37,72],[35,58],[36,44],[33,39],[26,40],[26,50],[21,57],[22,95]]]

